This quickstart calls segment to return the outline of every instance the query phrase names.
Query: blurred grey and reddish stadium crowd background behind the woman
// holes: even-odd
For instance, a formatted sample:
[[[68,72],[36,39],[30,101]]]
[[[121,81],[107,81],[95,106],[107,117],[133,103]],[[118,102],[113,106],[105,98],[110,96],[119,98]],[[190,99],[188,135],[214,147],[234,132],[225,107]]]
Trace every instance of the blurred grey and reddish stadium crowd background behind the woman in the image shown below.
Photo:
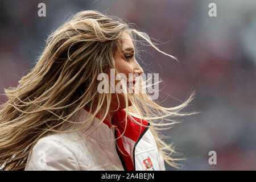
[[[38,16],[40,2],[46,17]],[[208,15],[212,2],[216,17]],[[47,35],[72,14],[90,9],[135,23],[179,60],[144,47],[141,62],[146,73],[162,78],[164,106],[179,105],[196,91],[184,111],[200,113],[180,118],[165,132],[187,158],[179,170],[256,170],[255,0],[2,0],[0,94],[34,67]],[[209,151],[216,151],[216,165],[208,163]]]

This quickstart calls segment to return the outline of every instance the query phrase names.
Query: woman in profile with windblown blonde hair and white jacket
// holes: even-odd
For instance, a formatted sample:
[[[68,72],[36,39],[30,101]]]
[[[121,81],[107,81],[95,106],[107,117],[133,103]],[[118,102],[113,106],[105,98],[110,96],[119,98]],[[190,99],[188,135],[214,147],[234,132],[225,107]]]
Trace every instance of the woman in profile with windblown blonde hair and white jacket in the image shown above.
[[[135,59],[137,42],[164,53],[146,33],[93,10],[77,13],[53,32],[32,71],[16,88],[5,90],[1,169],[165,170],[164,161],[179,167],[158,130],[175,123],[170,117],[189,114],[179,111],[193,94],[169,108],[141,92],[145,84]],[[111,71],[114,78],[133,76],[119,85],[132,92],[100,92],[118,85]],[[99,87],[102,74],[109,85]]]

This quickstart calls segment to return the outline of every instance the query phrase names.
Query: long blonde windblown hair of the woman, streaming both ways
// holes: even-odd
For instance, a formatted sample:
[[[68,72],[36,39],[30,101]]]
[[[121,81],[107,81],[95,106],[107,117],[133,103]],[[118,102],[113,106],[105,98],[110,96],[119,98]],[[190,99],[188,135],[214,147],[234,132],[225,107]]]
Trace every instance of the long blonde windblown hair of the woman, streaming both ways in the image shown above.
[[[64,123],[84,107],[93,111],[93,121],[104,110],[106,118],[111,95],[97,92],[97,76],[115,68],[114,56],[122,46],[123,32],[134,43],[148,43],[157,51],[149,36],[131,23],[98,11],[81,11],[57,28],[46,41],[35,67],[22,77],[16,88],[5,90],[8,100],[0,107],[0,167],[2,170],[24,170],[28,154],[39,139],[56,133]],[[139,37],[142,40],[137,40]],[[141,84],[142,85],[142,84]],[[179,106],[163,107],[150,99],[148,93],[125,94],[127,115],[130,112],[150,122],[159,151],[172,167],[179,167],[172,156],[175,150],[160,136],[159,130],[172,126],[171,117],[194,113],[180,113],[191,102],[194,93]],[[128,100],[133,103],[128,107]],[[102,109],[104,108],[104,109]]]

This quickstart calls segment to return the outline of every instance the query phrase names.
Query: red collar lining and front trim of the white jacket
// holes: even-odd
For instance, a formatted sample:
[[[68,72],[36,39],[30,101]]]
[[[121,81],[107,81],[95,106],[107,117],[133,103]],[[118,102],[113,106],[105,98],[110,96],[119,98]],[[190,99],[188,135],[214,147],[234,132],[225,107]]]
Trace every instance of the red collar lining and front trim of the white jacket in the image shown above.
[[[89,112],[88,108],[84,107],[84,109]],[[99,115],[96,115],[96,117],[100,119]],[[119,137],[121,137],[121,134],[125,132],[123,133],[123,136],[131,140],[134,140],[134,142],[137,142],[137,140],[141,137],[143,131],[148,126],[148,121],[144,119],[136,118],[133,115],[131,115],[131,117],[133,117],[133,119],[138,123],[134,122],[130,117],[127,117],[127,125],[126,125],[125,124],[126,111],[123,109],[120,109],[113,114],[112,123],[108,119],[104,119],[103,121],[105,125],[109,126],[110,129],[111,127],[115,127],[116,129],[115,138],[118,138],[117,139],[118,151],[119,151],[119,154],[121,154],[125,162],[126,169],[128,171],[133,171],[135,169],[133,160],[131,159],[131,156],[129,155],[129,153],[125,150],[125,147],[123,146],[122,138],[119,138]],[[141,123],[143,126],[140,125],[139,123]],[[126,129],[125,129],[125,125],[126,125]]]

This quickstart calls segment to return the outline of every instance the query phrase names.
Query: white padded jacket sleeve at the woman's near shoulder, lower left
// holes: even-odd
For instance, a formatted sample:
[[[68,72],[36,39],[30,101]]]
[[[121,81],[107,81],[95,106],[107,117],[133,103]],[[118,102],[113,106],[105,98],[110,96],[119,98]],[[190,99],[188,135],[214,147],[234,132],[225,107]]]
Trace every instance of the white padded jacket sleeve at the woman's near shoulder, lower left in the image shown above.
[[[41,139],[28,155],[25,171],[77,171],[79,165],[71,151],[53,140]]]

